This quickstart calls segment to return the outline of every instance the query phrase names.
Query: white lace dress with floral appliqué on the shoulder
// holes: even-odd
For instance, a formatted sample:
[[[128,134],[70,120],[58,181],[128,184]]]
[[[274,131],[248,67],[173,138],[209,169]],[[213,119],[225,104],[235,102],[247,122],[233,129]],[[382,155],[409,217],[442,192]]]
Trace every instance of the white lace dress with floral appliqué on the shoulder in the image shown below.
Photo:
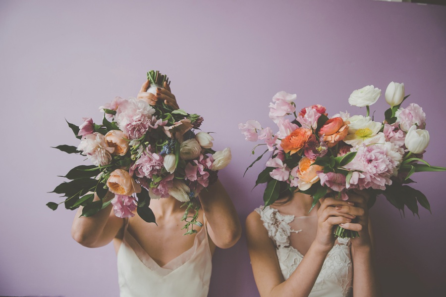
[[[295,218],[293,215],[283,215],[270,206],[256,208],[263,225],[268,230],[268,236],[276,245],[280,270],[286,280],[296,270],[303,255],[290,245],[289,237],[293,233],[305,230],[293,230],[290,223],[305,226],[308,217]],[[302,219],[302,222],[295,222]],[[308,226],[308,225],[307,225]],[[350,258],[350,239],[338,238],[324,261],[321,272],[314,284],[309,297],[348,297],[352,289],[352,264]]]

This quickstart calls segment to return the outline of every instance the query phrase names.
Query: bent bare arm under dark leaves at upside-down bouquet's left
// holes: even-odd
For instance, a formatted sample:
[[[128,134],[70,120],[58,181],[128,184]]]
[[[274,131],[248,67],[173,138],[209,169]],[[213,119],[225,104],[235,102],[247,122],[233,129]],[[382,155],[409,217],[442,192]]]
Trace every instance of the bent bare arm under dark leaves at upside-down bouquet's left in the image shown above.
[[[104,201],[113,197],[109,192]],[[96,193],[94,200],[99,200]],[[111,204],[90,217],[81,216],[82,208],[80,206],[77,210],[71,226],[73,239],[85,247],[103,247],[109,244],[122,227],[124,220],[114,215]]]

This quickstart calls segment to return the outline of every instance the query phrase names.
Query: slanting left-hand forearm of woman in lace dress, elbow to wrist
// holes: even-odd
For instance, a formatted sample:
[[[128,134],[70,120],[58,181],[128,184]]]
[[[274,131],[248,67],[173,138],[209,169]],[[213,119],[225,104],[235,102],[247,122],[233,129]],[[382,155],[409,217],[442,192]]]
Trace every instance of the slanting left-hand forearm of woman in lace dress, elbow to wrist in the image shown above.
[[[310,295],[328,252],[329,250],[313,242],[296,270],[286,281],[274,287],[268,297],[307,297]]]

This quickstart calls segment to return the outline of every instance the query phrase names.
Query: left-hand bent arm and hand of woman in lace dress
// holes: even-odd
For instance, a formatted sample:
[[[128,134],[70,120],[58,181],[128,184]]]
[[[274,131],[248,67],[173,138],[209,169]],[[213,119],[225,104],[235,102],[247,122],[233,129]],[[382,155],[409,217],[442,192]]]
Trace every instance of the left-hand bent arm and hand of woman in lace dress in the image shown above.
[[[284,280],[276,247],[268,237],[260,216],[253,212],[246,219],[246,236],[254,279],[261,297],[307,297],[316,282],[328,252],[335,243],[333,228],[350,222],[352,216],[338,213],[337,205],[347,201],[327,198],[318,211],[318,233],[296,270]]]

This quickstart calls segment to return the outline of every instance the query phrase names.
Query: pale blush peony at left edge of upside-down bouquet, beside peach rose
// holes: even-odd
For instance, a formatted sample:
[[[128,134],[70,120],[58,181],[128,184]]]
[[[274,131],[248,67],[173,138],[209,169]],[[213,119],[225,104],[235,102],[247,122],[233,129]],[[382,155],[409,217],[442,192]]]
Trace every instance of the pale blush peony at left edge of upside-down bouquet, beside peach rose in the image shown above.
[[[111,161],[111,153],[114,148],[110,148],[105,141],[104,135],[95,132],[85,135],[81,140],[77,150],[82,151],[90,161],[96,166],[108,165]]]

